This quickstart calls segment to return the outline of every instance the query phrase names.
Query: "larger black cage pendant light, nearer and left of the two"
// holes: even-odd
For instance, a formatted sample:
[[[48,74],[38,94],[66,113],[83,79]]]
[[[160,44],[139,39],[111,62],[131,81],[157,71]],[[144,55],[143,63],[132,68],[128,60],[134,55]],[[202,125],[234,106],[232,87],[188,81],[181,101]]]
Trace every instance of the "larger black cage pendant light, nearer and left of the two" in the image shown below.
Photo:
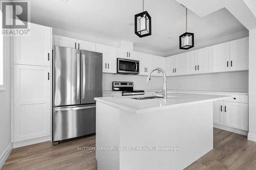
[[[151,35],[151,16],[144,11],[144,0],[142,0],[143,12],[135,15],[135,34],[140,38]]]

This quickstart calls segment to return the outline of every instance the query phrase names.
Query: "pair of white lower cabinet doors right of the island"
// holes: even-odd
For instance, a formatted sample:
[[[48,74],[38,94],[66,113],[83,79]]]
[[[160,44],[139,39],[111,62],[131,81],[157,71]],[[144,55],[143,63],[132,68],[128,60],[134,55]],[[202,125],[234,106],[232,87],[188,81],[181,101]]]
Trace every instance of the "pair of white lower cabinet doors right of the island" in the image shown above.
[[[214,102],[214,123],[248,131],[248,104]]]

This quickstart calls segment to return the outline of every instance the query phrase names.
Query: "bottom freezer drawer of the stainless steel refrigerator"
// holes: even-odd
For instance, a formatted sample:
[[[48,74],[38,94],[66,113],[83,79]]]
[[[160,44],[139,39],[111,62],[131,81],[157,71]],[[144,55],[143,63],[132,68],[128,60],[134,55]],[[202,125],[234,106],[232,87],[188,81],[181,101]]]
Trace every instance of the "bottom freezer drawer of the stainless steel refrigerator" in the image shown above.
[[[95,133],[96,105],[54,107],[53,142]]]

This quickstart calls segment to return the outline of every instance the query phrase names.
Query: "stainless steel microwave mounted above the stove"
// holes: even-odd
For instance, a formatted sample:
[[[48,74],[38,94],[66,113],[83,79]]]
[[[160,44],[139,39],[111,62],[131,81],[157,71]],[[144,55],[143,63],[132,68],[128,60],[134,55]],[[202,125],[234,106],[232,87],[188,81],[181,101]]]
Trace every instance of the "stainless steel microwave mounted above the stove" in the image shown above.
[[[140,62],[137,60],[117,58],[117,74],[138,75],[139,64]]]

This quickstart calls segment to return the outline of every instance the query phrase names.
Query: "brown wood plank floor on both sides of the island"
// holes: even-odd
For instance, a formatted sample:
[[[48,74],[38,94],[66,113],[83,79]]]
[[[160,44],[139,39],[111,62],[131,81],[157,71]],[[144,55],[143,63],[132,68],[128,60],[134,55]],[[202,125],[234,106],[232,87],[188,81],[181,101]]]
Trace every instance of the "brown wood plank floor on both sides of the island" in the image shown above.
[[[186,170],[256,169],[256,142],[248,141],[246,138],[214,129],[214,149]],[[94,146],[95,135],[55,146],[51,142],[33,144],[14,149],[2,169],[97,169],[94,151],[77,150],[77,147]]]

